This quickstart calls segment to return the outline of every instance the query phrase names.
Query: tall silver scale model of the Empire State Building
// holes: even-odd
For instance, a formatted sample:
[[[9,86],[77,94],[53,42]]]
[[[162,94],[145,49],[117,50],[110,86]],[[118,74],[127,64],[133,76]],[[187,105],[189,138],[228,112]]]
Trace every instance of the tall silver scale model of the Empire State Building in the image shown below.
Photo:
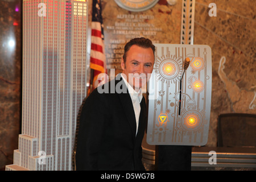
[[[22,134],[10,170],[73,170],[88,0],[23,0]]]

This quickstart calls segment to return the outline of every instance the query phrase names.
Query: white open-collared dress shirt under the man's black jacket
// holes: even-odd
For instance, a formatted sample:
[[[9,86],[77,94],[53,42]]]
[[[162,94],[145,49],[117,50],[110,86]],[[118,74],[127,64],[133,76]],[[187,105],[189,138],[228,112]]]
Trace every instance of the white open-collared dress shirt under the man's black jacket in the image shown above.
[[[142,89],[139,89],[139,92],[136,92],[133,87],[127,82],[126,78],[123,77],[121,73],[121,76],[123,78],[123,81],[125,81],[125,85],[127,86],[128,92],[131,97],[131,101],[133,101],[133,109],[135,113],[135,118],[136,118],[136,135],[138,132],[138,126],[139,126],[139,114],[141,113],[141,100],[142,100]]]

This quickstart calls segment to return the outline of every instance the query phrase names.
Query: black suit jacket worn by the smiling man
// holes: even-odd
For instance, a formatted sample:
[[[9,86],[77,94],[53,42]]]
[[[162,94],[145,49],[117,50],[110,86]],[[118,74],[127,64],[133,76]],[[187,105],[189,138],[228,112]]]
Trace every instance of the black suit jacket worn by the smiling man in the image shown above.
[[[124,86],[126,93],[110,93]],[[99,89],[109,93],[99,93]],[[116,91],[117,89],[115,89]],[[77,138],[77,170],[144,170],[142,164],[142,139],[147,114],[144,97],[141,101],[138,133],[130,94],[119,74],[94,89],[86,98],[80,115]]]

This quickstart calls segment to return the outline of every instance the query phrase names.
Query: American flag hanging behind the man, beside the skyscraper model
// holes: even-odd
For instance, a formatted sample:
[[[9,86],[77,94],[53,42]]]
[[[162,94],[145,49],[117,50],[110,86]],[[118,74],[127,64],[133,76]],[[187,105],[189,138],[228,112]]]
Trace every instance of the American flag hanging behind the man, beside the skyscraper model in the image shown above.
[[[92,38],[90,51],[90,90],[97,88],[100,81],[97,77],[100,73],[106,73],[106,56],[104,48],[104,26],[101,15],[101,0],[93,0],[92,10]],[[103,80],[103,79],[102,79]],[[104,80],[106,82],[106,79]],[[102,84],[102,82],[101,82]]]

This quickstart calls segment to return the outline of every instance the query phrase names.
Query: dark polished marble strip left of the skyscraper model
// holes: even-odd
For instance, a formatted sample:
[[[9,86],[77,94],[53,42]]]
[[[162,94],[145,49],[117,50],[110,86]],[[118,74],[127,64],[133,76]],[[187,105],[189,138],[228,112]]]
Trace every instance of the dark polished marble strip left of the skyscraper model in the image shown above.
[[[20,0],[0,1],[0,169],[13,164],[20,130],[22,31]]]

